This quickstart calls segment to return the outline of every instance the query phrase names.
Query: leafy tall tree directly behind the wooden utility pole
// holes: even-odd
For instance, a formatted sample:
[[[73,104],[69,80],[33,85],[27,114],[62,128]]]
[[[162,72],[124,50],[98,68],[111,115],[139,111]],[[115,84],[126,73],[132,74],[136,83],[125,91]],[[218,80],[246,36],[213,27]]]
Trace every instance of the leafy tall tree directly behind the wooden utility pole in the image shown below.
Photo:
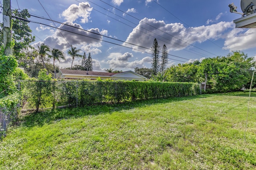
[[[27,9],[24,9],[20,12],[18,10],[12,11],[12,15],[28,19],[30,18],[30,14]],[[3,44],[3,27],[2,23],[0,26],[0,46]],[[13,55],[16,58],[19,58],[22,50],[27,50],[31,48],[30,43],[35,41],[35,36],[31,35],[32,30],[28,26],[28,22],[24,20],[19,20],[17,18],[12,17],[12,39],[14,40],[14,47],[12,49]]]

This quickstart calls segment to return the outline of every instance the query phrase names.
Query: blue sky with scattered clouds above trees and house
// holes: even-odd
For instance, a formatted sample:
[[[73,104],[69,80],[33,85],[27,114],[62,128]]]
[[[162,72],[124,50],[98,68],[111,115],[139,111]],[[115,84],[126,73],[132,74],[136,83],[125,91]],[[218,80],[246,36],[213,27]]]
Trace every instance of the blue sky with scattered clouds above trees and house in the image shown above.
[[[240,0],[12,0],[11,6],[33,15],[32,46],[64,52],[60,68],[71,66],[72,45],[91,54],[94,71],[134,71],[151,67],[155,38],[161,50],[167,46],[168,67],[236,50],[256,56],[256,29],[235,28],[241,15],[229,12],[232,2],[242,12]],[[76,58],[73,65],[80,63]]]

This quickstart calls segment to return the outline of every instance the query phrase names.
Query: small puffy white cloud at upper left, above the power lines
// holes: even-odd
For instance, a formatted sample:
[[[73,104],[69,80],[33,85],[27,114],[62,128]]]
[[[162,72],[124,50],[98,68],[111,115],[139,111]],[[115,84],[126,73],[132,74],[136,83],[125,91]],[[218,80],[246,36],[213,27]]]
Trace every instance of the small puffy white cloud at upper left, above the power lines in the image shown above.
[[[68,9],[64,10],[61,14],[67,21],[73,22],[80,18],[80,22],[86,23],[89,21],[90,13],[92,8],[88,2],[79,3],[77,6],[76,4],[72,4],[68,7]]]

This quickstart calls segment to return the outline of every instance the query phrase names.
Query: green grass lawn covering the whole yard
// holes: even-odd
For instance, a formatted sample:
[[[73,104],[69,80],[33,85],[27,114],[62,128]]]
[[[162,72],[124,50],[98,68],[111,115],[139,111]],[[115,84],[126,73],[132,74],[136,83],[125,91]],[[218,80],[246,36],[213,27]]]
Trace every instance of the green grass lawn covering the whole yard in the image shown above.
[[[256,93],[31,113],[0,142],[0,169],[256,169]],[[246,130],[246,132],[245,132]]]

